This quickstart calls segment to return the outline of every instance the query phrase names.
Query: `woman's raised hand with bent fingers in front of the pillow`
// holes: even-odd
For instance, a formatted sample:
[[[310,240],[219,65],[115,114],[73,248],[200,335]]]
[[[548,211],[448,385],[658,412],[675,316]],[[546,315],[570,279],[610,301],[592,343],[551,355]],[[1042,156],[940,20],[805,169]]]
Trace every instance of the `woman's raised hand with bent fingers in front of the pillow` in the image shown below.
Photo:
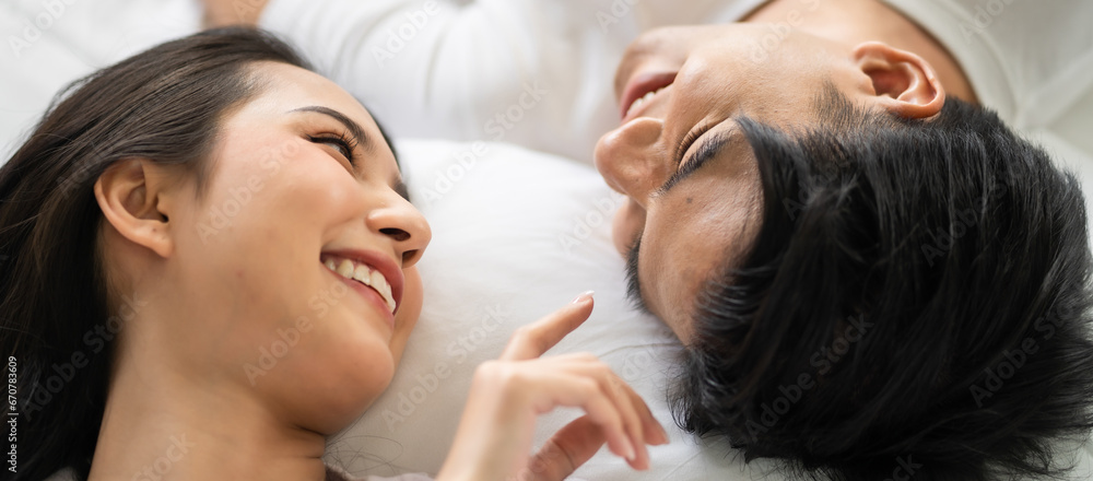
[[[498,360],[479,366],[437,481],[562,480],[603,443],[631,467],[648,468],[646,445],[668,436],[645,401],[591,354],[539,359],[591,312],[591,294],[584,294],[517,330]],[[585,415],[531,456],[536,418],[557,407]]]

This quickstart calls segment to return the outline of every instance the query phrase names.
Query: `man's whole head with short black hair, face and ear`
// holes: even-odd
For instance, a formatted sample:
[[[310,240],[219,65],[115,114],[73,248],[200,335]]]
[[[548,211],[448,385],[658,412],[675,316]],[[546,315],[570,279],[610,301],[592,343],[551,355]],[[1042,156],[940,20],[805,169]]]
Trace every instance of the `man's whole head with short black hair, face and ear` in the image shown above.
[[[957,70],[799,32],[755,62],[764,31],[639,38],[596,151],[682,425],[834,479],[1054,472],[1091,421],[1077,180]]]

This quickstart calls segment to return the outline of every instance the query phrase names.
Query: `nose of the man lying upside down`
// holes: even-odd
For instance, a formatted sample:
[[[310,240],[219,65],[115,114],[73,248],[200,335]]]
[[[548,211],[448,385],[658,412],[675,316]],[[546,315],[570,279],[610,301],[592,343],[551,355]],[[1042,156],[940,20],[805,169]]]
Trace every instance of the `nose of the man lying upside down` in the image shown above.
[[[642,207],[672,171],[663,131],[663,120],[639,117],[608,132],[596,144],[595,162],[600,175],[611,188]]]

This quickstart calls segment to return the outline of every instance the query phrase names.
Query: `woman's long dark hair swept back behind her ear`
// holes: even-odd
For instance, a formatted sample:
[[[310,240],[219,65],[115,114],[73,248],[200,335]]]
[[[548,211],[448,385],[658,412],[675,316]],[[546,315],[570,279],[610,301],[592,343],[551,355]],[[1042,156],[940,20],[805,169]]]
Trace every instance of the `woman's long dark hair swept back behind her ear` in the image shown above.
[[[257,61],[310,69],[254,30],[169,42],[73,83],[0,167],[0,352],[19,400],[4,412],[17,412],[19,470],[9,479],[64,467],[86,478],[118,316],[141,302],[115,309],[108,301],[116,293],[98,251],[95,181],[113,163],[141,157],[185,168],[200,191],[220,121],[261,89],[248,70]]]

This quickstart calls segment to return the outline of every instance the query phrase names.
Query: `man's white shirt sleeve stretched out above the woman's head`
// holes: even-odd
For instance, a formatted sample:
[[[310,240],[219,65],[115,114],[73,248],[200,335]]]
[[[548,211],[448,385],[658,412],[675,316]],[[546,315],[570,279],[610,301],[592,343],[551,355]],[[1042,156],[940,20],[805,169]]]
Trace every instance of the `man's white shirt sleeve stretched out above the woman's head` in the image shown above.
[[[762,0],[272,0],[295,44],[396,137],[518,143],[590,162],[619,125],[614,72],[642,31]]]

